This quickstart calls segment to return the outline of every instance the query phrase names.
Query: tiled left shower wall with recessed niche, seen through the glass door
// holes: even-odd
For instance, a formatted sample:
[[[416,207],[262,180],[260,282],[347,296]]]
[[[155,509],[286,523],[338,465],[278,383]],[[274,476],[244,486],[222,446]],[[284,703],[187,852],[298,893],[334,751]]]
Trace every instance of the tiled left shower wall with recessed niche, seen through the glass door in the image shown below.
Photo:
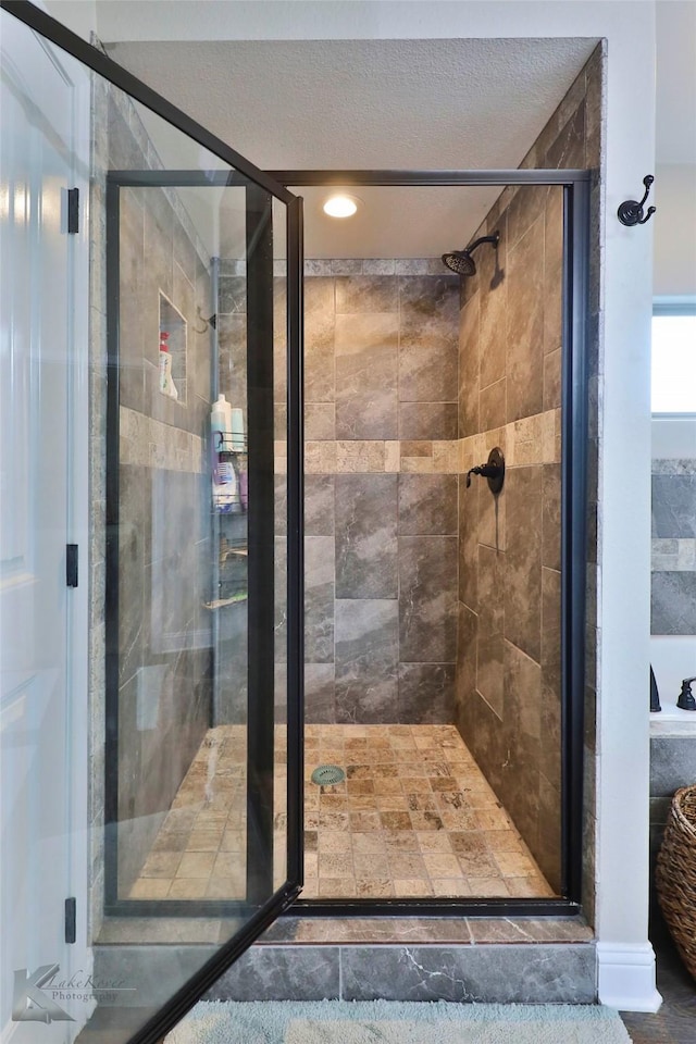
[[[105,375],[98,355],[105,344],[104,173],[161,166],[130,101],[99,80],[94,91],[92,658],[104,612]],[[119,884],[127,894],[209,724],[212,649],[202,602],[211,576],[204,455],[211,343],[194,330],[196,306],[210,301],[209,261],[176,194],[126,188],[120,199],[120,633],[119,649],[108,651],[119,656]],[[160,291],[188,324],[177,402],[159,390]],[[103,880],[103,686],[92,673],[95,931]]]

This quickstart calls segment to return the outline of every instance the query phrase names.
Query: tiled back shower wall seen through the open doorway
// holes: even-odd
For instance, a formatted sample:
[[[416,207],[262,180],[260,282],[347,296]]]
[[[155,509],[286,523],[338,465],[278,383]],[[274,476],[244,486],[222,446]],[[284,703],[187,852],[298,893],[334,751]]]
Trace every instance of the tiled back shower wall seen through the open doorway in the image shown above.
[[[306,271],[307,720],[450,722],[458,279]]]

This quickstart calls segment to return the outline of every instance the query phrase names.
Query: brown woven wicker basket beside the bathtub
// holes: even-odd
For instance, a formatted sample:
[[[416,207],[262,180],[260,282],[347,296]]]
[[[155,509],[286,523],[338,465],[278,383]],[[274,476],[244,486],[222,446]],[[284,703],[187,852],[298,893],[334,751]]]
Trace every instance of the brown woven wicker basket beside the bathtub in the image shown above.
[[[696,785],[672,798],[655,879],[672,939],[696,979]]]

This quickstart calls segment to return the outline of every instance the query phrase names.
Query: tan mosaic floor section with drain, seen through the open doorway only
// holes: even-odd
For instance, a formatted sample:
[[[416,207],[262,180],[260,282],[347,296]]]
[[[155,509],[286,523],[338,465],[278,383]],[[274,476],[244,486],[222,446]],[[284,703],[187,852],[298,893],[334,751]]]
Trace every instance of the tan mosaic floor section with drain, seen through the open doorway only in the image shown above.
[[[453,725],[308,725],[304,898],[550,896]],[[308,782],[322,763],[346,781]]]

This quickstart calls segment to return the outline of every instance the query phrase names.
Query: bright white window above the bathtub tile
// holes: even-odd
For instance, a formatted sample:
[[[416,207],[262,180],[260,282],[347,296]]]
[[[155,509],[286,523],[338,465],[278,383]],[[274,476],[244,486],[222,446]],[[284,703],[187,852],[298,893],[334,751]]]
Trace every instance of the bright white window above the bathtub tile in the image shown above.
[[[652,412],[696,414],[696,304],[652,312]]]

